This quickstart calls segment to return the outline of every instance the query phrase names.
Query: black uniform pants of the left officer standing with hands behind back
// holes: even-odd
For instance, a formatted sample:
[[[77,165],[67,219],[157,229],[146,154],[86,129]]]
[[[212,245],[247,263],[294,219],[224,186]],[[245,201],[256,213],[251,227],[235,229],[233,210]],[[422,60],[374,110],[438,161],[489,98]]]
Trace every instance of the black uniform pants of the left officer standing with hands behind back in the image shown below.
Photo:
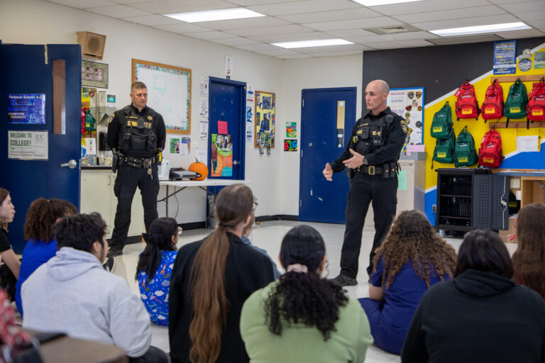
[[[110,247],[123,250],[127,240],[128,227],[131,225],[131,206],[136,187],[140,188],[144,207],[144,225],[146,232],[153,220],[157,219],[157,195],[159,194],[159,177],[157,165],[152,164],[151,175],[143,167],[131,167],[127,164],[117,169],[114,194],[117,197],[114,232],[111,235]]]

